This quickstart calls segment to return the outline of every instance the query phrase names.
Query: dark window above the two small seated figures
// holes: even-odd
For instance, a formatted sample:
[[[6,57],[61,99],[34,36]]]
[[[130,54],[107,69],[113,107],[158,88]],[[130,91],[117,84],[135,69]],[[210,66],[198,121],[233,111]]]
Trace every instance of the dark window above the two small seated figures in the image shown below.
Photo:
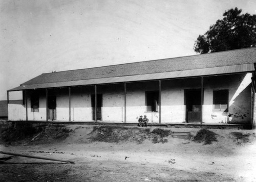
[[[159,91],[146,92],[146,111],[158,112]]]

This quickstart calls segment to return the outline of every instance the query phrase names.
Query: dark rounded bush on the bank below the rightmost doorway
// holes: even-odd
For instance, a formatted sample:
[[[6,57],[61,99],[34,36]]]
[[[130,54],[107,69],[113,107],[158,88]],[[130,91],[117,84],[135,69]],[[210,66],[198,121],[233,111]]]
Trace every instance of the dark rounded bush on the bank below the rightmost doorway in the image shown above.
[[[195,142],[204,142],[204,145],[211,144],[212,142],[217,142],[217,134],[209,131],[208,129],[200,129],[197,135],[194,137]]]

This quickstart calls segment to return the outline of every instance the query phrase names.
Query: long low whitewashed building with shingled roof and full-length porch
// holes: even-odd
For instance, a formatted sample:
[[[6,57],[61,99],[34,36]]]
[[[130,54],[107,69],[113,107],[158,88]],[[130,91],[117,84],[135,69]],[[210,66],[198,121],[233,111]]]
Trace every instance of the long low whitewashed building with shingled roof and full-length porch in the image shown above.
[[[10,121],[254,126],[256,47],[44,73],[7,91]],[[9,92],[23,91],[23,103]]]

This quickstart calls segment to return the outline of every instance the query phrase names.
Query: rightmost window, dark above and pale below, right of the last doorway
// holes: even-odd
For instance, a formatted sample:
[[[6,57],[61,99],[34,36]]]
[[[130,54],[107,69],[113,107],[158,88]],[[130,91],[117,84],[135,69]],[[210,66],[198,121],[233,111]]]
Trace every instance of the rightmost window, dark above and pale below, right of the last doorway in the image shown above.
[[[228,112],[228,90],[214,90],[215,112]]]

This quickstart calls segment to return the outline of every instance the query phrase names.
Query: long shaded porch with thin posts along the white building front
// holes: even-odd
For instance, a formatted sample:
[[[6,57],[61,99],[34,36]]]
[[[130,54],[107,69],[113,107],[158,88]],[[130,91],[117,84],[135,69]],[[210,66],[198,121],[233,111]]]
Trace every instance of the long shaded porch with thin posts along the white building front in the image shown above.
[[[27,89],[23,96],[22,106],[9,103],[9,120],[133,124],[146,115],[151,125],[252,122],[251,73]]]

